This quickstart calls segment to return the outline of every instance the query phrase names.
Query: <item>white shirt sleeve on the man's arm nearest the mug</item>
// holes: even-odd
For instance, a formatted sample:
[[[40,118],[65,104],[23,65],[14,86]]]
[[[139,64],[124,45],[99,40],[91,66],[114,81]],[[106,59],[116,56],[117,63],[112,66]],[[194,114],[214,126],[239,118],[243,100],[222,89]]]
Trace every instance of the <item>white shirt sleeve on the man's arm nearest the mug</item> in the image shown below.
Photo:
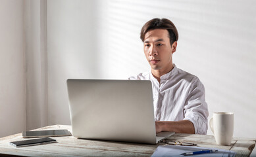
[[[205,88],[199,79],[192,81],[184,105],[184,120],[190,120],[195,128],[195,134],[206,134],[209,112],[205,101]]]

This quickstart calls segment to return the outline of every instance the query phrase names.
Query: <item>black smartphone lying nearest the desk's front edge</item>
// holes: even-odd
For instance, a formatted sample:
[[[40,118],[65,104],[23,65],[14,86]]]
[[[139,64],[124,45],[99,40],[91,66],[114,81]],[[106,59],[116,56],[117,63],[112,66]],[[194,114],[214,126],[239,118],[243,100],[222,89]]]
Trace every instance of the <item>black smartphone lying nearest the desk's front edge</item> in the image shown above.
[[[46,143],[55,143],[55,142],[57,142],[55,139],[51,139],[49,137],[44,137],[44,138],[40,138],[40,139],[13,141],[13,142],[10,142],[10,145],[13,145],[14,147],[26,147],[26,146],[43,145]]]

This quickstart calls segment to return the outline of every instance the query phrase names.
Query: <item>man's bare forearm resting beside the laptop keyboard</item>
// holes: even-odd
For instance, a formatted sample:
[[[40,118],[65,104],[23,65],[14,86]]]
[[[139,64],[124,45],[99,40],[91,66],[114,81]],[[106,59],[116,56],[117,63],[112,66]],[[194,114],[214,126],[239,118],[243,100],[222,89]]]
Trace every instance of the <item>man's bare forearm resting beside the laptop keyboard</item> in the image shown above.
[[[176,133],[195,133],[195,128],[190,120],[172,121],[157,121],[155,127],[158,132],[173,131]]]

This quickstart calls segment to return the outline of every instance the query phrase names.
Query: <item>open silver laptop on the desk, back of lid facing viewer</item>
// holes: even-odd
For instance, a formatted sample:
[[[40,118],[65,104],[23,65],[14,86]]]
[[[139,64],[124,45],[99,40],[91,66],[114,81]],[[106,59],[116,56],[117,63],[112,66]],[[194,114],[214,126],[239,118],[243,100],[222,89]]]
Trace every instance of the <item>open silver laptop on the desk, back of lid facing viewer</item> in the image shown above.
[[[68,79],[67,86],[74,137],[155,144],[174,134],[156,135],[150,80]]]

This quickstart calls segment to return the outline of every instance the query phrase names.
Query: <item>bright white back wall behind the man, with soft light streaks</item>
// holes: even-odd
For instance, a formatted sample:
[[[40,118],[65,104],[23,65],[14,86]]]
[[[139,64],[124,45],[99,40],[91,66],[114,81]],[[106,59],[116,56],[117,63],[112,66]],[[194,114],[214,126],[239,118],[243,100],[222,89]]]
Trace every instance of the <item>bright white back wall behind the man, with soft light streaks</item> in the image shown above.
[[[234,136],[256,133],[256,1],[47,1],[49,125],[70,124],[66,79],[127,79],[149,70],[140,29],[169,18],[174,63],[205,85],[211,118],[235,113]],[[208,131],[211,134],[211,131]]]

